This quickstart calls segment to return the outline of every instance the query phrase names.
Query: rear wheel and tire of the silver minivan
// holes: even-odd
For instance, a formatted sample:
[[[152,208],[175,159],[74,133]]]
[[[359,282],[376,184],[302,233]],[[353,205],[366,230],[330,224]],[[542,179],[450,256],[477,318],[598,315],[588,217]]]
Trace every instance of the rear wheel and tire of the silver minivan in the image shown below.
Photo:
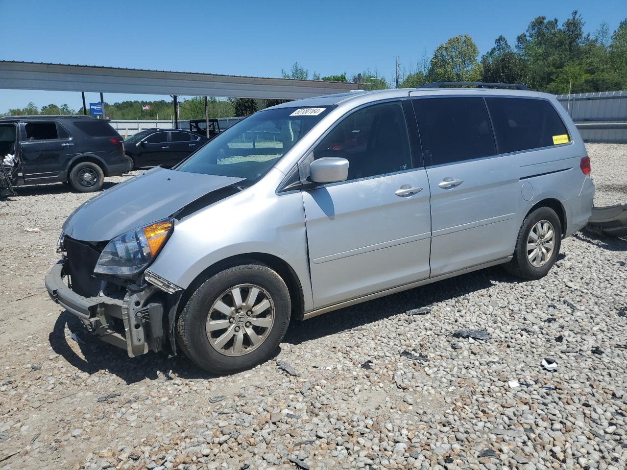
[[[543,236],[542,227],[547,227],[545,222],[548,222],[549,226]],[[539,226],[540,223],[542,224],[541,226]],[[532,235],[532,231],[534,235]],[[551,231],[552,251],[549,251],[551,246],[549,234]],[[539,244],[538,242],[534,243],[534,236],[539,239]],[[530,241],[529,247],[535,245],[536,248],[530,248],[527,251],[527,241]],[[562,224],[556,212],[551,207],[538,207],[538,209],[535,209],[535,211],[525,217],[525,220],[522,222],[516,241],[514,258],[505,264],[505,269],[507,269],[508,273],[523,279],[543,278],[555,263],[561,243]],[[541,248],[544,248],[544,251]]]

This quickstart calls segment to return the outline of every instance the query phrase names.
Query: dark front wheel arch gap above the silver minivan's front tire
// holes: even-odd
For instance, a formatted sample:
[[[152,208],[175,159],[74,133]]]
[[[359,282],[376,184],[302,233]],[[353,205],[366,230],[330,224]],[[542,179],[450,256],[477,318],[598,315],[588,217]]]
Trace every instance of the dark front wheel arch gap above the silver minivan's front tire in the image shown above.
[[[204,281],[211,278],[214,274],[224,271],[224,269],[246,263],[265,264],[268,268],[273,269],[279,276],[281,276],[285,285],[287,285],[288,292],[290,293],[290,300],[292,301],[292,319],[302,320],[305,311],[305,300],[303,297],[302,284],[296,274],[296,271],[294,271],[292,266],[290,266],[290,264],[288,264],[284,259],[268,253],[236,254],[211,264],[211,266],[201,271],[201,273],[194,278],[189,286],[187,286],[186,290],[184,290],[181,300],[179,301],[177,316],[180,315],[189,298],[196,291],[196,289],[204,283]]]

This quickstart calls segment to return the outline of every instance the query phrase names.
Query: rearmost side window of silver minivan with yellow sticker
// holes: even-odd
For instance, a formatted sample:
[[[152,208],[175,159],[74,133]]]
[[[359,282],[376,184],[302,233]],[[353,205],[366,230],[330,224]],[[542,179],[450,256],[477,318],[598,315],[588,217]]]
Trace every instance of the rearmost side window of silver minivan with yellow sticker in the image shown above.
[[[486,102],[501,154],[570,141],[564,122],[547,100],[486,98]]]

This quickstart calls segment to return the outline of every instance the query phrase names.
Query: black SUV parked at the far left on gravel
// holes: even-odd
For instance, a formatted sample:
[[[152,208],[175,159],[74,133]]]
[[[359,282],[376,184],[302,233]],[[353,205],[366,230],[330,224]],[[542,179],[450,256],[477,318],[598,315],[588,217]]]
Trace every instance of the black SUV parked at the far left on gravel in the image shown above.
[[[98,191],[105,176],[132,167],[120,134],[89,116],[2,117],[0,162],[7,155],[14,185],[69,182],[81,192]]]

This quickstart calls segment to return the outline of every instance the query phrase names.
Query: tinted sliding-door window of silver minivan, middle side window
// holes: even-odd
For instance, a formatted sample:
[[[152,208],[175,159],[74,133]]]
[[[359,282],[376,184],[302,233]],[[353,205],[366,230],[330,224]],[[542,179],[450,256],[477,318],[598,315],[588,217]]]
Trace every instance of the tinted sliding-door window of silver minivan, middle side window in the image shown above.
[[[495,155],[483,98],[413,100],[424,164],[442,165]]]

